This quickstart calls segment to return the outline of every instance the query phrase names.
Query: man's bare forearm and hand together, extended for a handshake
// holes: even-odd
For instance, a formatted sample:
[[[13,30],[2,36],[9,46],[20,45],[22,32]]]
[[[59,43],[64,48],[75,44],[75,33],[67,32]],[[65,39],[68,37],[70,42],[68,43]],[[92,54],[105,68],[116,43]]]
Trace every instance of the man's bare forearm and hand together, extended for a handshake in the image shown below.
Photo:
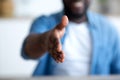
[[[64,53],[61,48],[60,39],[64,35],[67,24],[68,18],[64,16],[61,23],[54,29],[42,34],[30,34],[24,45],[23,50],[25,54],[31,59],[37,59],[48,51],[56,62],[63,62]]]

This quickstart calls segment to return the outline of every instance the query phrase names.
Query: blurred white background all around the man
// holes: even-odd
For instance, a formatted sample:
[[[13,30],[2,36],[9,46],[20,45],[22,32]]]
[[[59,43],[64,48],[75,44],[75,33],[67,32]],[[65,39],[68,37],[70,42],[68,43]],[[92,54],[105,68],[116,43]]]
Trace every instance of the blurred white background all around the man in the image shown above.
[[[22,42],[36,17],[61,11],[62,3],[61,0],[14,0],[14,2],[16,18],[0,19],[0,77],[29,77],[37,61],[22,59],[20,56]],[[92,9],[98,11],[95,1]],[[120,17],[109,18],[120,32]]]

